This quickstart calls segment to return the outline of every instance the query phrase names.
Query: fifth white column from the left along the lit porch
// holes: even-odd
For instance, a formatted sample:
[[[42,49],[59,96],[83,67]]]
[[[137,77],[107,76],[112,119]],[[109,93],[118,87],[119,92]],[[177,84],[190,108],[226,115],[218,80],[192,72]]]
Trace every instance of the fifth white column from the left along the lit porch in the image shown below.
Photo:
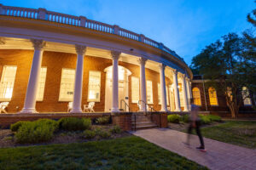
[[[166,105],[166,77],[165,68],[166,65],[160,64],[160,87],[161,87],[161,111],[168,111]]]

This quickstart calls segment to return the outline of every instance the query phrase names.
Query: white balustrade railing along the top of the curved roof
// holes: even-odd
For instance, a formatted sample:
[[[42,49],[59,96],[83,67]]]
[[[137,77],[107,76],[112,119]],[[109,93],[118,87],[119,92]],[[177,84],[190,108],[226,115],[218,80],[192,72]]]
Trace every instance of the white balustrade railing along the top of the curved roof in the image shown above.
[[[39,12],[42,12],[43,10],[43,16],[42,14],[39,15]],[[183,60],[181,57],[179,57],[174,51],[172,51],[169,48],[166,48],[163,44],[160,42],[155,42],[154,40],[144,37],[142,35],[139,35],[135,32],[125,30],[123,28],[118,28],[118,32],[114,33],[114,26],[98,22],[96,20],[87,20],[83,16],[73,16],[69,14],[61,14],[56,13],[52,11],[47,11],[44,8],[19,8],[19,7],[9,7],[9,6],[3,6],[0,4],[0,14],[7,15],[7,16],[15,16],[15,17],[22,17],[22,18],[30,18],[30,19],[38,19],[38,20],[49,20],[52,22],[57,22],[61,24],[67,24],[72,26],[82,26],[91,30],[96,31],[103,31],[111,34],[117,34],[120,37],[126,37],[132,40],[144,42],[150,46],[153,46],[154,48],[160,48],[168,54],[172,54],[177,59]]]

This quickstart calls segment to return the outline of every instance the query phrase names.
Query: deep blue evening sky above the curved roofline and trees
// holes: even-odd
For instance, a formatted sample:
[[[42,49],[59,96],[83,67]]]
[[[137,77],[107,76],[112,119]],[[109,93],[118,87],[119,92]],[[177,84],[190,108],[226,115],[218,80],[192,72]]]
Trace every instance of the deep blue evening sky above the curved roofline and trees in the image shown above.
[[[219,37],[251,28],[246,16],[256,6],[253,0],[0,0],[0,3],[84,15],[119,25],[163,42],[188,65],[193,56]]]

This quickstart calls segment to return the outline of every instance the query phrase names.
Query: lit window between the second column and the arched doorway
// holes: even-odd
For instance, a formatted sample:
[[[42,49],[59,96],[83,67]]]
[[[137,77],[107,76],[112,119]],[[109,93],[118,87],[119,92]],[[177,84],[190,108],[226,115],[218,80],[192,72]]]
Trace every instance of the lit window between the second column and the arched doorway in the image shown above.
[[[88,101],[100,101],[101,71],[89,71]]]

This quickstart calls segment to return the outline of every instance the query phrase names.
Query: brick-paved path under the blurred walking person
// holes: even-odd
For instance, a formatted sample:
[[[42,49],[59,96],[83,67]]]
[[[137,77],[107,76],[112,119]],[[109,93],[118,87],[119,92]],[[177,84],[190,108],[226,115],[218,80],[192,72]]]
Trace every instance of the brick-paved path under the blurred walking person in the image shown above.
[[[197,136],[191,136],[191,145],[188,147],[183,144],[187,138],[186,133],[167,128],[145,129],[132,133],[210,169],[256,170],[256,150],[204,139],[207,152],[201,152],[195,150],[195,147],[199,145]]]

